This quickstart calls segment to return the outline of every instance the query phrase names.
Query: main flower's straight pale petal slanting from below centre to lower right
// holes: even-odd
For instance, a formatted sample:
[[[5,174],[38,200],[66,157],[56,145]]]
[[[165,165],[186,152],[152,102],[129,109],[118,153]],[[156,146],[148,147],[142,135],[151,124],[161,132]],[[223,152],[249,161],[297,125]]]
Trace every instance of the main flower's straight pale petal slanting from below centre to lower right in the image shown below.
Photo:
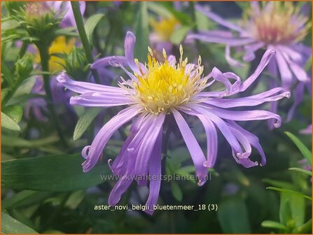
[[[190,155],[193,159],[193,164],[195,164],[195,172],[197,175],[197,179],[199,180],[198,185],[201,186],[205,183],[207,177],[207,168],[203,166],[204,162],[206,162],[206,159],[200,148],[199,143],[197,143],[193,132],[188,127],[188,124],[183,119],[181,113],[176,110],[173,110],[172,112],[179,127],[179,130],[181,131],[181,135],[183,136],[183,140],[185,141]]]

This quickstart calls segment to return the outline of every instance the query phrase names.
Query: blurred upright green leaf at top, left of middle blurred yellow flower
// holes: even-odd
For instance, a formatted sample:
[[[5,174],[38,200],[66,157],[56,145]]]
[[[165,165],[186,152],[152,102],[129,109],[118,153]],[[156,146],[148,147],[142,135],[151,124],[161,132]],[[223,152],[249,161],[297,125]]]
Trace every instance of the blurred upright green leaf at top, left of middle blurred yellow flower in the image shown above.
[[[137,41],[134,45],[134,56],[139,59],[140,62],[145,62],[149,45],[148,10],[146,1],[141,1],[139,4],[139,13],[135,30]]]

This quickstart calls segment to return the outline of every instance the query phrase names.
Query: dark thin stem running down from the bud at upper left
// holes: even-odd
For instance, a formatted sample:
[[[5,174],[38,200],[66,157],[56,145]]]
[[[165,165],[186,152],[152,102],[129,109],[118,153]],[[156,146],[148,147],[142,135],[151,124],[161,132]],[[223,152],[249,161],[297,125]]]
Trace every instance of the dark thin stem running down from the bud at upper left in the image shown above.
[[[41,58],[41,69],[43,72],[49,71],[49,52],[48,52],[48,45],[38,45],[39,54]],[[43,73],[43,87],[46,91],[46,101],[48,105],[48,109],[50,111],[51,118],[53,118],[53,122],[55,122],[55,127],[57,129],[57,133],[60,136],[60,141],[62,141],[62,145],[67,147],[66,138],[64,138],[61,125],[59,120],[57,119],[57,112],[55,111],[55,106],[53,105],[53,96],[50,87],[50,76],[48,73]]]

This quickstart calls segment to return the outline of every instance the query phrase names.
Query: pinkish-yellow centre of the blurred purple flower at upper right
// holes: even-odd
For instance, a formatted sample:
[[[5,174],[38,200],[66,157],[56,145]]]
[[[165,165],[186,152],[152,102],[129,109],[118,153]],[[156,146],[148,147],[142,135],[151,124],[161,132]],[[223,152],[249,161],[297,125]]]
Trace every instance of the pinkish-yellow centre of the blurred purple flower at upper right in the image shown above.
[[[249,10],[251,31],[267,44],[289,44],[301,41],[307,35],[307,17],[299,15],[300,8],[292,2],[272,2],[272,8],[263,8],[260,15]]]

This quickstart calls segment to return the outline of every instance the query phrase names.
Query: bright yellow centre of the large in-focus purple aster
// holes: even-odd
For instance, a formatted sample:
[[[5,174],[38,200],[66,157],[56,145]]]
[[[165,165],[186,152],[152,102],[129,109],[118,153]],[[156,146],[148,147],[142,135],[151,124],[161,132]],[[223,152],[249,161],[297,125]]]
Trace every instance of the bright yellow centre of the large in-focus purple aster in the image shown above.
[[[188,59],[182,59],[183,48],[180,48],[181,57],[177,64],[169,62],[163,50],[164,62],[158,62],[148,48],[148,64],[146,71],[141,75],[134,74],[137,81],[127,84],[132,87],[132,98],[143,107],[143,111],[153,114],[169,113],[172,108],[186,104],[207,85],[207,78],[202,78],[203,66],[201,57],[198,64],[187,64]],[[138,68],[139,64],[138,64]],[[121,85],[125,87],[125,83]]]

